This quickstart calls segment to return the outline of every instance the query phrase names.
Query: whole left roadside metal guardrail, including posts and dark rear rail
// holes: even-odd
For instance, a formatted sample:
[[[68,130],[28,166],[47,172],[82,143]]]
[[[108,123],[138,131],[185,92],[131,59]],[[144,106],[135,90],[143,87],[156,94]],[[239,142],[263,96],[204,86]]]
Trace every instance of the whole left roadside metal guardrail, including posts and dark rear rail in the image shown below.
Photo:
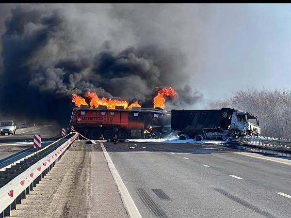
[[[54,167],[68,146],[76,140],[78,134],[70,133],[64,138],[47,146],[47,149],[17,161],[11,168],[0,173],[0,218],[10,216],[26,195]],[[65,140],[64,140],[65,139]],[[51,149],[49,149],[49,147]]]

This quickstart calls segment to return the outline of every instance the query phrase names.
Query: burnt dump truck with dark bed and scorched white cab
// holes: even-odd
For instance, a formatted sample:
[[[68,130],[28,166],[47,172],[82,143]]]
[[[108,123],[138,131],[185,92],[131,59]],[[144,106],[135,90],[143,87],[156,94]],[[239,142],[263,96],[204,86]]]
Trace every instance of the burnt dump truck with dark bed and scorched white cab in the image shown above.
[[[259,136],[259,119],[242,110],[222,108],[209,110],[171,111],[171,128],[180,140],[227,140]]]

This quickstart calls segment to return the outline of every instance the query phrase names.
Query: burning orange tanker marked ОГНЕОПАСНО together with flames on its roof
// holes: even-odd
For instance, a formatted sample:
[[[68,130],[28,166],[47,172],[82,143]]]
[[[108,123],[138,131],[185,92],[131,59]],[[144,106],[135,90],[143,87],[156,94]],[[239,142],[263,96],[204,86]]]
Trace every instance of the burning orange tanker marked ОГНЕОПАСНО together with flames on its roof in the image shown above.
[[[86,93],[86,98],[72,94],[73,109],[69,126],[91,140],[163,138],[171,132],[171,113],[164,109],[165,96],[175,98],[171,88],[163,88],[154,97],[154,108],[142,108],[138,102],[98,98],[96,93]]]

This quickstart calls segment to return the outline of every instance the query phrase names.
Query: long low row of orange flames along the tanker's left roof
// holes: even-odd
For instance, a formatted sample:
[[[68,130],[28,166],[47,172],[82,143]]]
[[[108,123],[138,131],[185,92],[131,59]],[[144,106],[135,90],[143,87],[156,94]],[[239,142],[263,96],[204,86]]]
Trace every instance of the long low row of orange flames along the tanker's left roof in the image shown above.
[[[75,98],[82,99],[85,102],[85,104],[83,103],[77,104],[76,101],[73,100],[73,96]],[[97,94],[93,92],[87,92],[85,96],[86,98],[89,99],[90,101],[89,105],[91,108],[98,108],[99,105],[106,106],[107,108],[112,108],[112,109],[115,109],[116,106],[122,106],[125,109],[127,108],[131,109],[132,107],[141,107],[137,101],[134,101],[132,104],[129,105],[129,103],[125,100],[117,100],[117,99],[111,99],[111,98],[107,99],[105,97],[99,98]],[[81,105],[88,105],[84,98],[77,96],[77,94],[75,93],[72,94],[72,101],[75,102],[75,105],[77,107],[80,107]]]

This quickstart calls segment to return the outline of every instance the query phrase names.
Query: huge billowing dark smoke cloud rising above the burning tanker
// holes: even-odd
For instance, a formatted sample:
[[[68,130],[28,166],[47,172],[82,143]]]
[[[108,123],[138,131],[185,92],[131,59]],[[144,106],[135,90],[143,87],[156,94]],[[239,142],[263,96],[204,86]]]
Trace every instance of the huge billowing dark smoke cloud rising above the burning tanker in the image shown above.
[[[87,5],[73,9],[88,10],[89,14]],[[115,31],[121,32],[123,27],[134,29],[132,38],[138,39],[132,43],[125,41],[126,47],[116,46],[123,33],[118,35],[111,28],[98,30],[108,31],[111,39],[98,38],[97,34],[94,41],[90,33],[95,33],[86,27],[86,20],[71,17],[73,9],[51,5],[12,8],[1,37],[1,111],[67,122],[73,108],[70,95],[89,90],[99,96],[138,100],[147,107],[152,107],[157,86],[172,86],[178,92],[178,101],[169,107],[181,108],[202,98],[187,85],[190,75],[184,72],[185,55],[178,48],[160,43],[151,34],[144,33],[141,38],[135,26],[139,24],[141,31],[149,31],[150,27],[141,19],[134,24],[128,22],[136,14],[123,13],[129,10],[127,7],[113,5],[107,15],[107,21],[113,19],[113,23],[116,18],[123,20],[124,26]],[[156,10],[153,8],[152,13],[157,13]],[[90,15],[88,22],[89,18]],[[98,20],[94,22],[99,25]]]

